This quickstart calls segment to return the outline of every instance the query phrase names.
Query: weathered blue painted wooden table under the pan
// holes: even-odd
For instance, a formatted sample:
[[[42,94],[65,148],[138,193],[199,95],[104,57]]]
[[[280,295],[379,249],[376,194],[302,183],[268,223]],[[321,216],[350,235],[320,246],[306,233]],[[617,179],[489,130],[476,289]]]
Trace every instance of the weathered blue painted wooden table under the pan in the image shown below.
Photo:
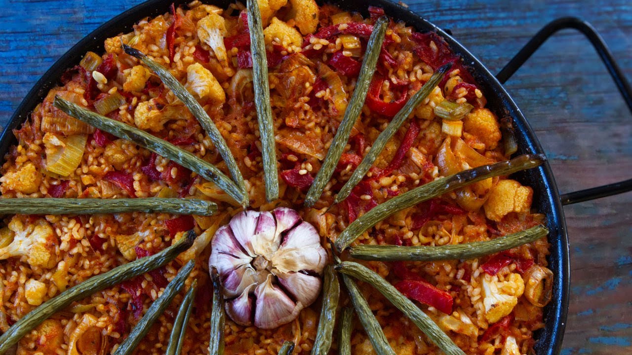
[[[142,0],[0,0],[0,125],[49,66]],[[545,23],[590,21],[632,79],[632,2],[408,1],[452,30],[493,73]],[[562,192],[632,175],[632,115],[578,33],[549,40],[506,84],[537,132]],[[571,302],[563,355],[632,354],[632,193],[565,208]]]

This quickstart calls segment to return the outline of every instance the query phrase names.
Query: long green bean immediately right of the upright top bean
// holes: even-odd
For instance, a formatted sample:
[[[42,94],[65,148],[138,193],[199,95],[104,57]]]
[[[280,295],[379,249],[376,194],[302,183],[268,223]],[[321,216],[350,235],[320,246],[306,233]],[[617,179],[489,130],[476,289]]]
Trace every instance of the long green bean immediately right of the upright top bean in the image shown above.
[[[322,190],[325,185],[331,179],[334,174],[334,169],[338,165],[343,154],[344,146],[349,140],[349,134],[351,128],[358,120],[364,100],[367,99],[368,87],[373,79],[373,73],[375,72],[375,64],[377,64],[377,58],[382,50],[382,42],[384,42],[384,35],[386,34],[386,28],[388,27],[389,20],[386,16],[380,17],[375,21],[373,32],[368,39],[367,52],[364,54],[362,61],[362,69],[360,69],[360,75],[358,75],[358,81],[356,81],[355,89],[349,99],[349,105],[347,105],[346,111],[344,111],[343,121],[340,123],[334,136],[334,140],[331,142],[331,147],[327,150],[327,156],[320,167],[316,178],[314,179],[310,190],[307,191],[305,196],[305,205],[312,207],[314,203],[318,201]]]

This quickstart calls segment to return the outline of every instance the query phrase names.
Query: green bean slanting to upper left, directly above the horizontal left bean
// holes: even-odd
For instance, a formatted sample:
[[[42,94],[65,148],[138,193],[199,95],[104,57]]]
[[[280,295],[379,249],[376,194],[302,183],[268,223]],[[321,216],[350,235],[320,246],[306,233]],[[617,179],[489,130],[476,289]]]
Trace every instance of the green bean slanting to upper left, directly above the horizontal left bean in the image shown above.
[[[248,195],[244,192],[245,190],[238,188],[228,176],[224,175],[215,165],[210,164],[206,160],[200,159],[167,141],[156,138],[142,129],[132,127],[129,124],[116,121],[115,119],[107,118],[106,116],[101,116],[100,114],[75,105],[72,102],[61,99],[61,97],[55,97],[54,105],[58,109],[61,109],[61,111],[66,112],[66,114],[80,121],[118,136],[119,138],[133,141],[143,148],[147,148],[158,155],[173,160],[191,171],[197,172],[202,178],[216,183],[219,188],[226,191],[228,195],[237,202],[240,202],[241,205],[248,205]]]

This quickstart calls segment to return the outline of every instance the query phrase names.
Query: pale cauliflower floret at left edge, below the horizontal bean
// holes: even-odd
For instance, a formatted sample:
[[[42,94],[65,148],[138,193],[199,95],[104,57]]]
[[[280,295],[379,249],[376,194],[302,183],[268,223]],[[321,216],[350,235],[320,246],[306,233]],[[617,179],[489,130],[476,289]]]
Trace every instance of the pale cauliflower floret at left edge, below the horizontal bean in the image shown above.
[[[9,222],[9,229],[13,231],[13,241],[8,246],[0,248],[0,260],[11,256],[27,256],[27,263],[33,266],[48,266],[51,260],[51,251],[47,248],[53,237],[52,227],[44,219],[25,226],[18,217],[13,217]]]

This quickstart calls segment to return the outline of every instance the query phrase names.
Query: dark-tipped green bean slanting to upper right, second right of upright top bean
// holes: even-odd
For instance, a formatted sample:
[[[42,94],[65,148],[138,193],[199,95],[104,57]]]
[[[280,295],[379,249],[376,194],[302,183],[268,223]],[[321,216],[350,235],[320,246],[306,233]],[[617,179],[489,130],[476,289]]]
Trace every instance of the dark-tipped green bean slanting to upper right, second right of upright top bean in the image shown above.
[[[368,169],[370,169],[371,165],[373,165],[375,159],[377,159],[378,155],[380,155],[382,150],[384,150],[386,143],[398,131],[401,124],[404,123],[408,116],[410,116],[415,107],[425,100],[434,88],[441,83],[441,80],[443,80],[444,75],[446,75],[446,72],[451,68],[451,66],[452,63],[448,63],[437,69],[437,71],[435,71],[435,73],[430,77],[430,80],[428,80],[423,87],[416,92],[415,95],[408,100],[408,102],[406,102],[404,107],[399,110],[395,117],[392,118],[391,122],[389,122],[384,131],[377,136],[375,143],[373,143],[367,155],[365,155],[362,159],[360,165],[356,167],[353,174],[351,174],[347,182],[344,183],[343,188],[340,189],[340,192],[334,199],[334,203],[340,203],[349,196],[351,190],[360,183],[360,180],[362,180],[365,174],[367,174]]]

